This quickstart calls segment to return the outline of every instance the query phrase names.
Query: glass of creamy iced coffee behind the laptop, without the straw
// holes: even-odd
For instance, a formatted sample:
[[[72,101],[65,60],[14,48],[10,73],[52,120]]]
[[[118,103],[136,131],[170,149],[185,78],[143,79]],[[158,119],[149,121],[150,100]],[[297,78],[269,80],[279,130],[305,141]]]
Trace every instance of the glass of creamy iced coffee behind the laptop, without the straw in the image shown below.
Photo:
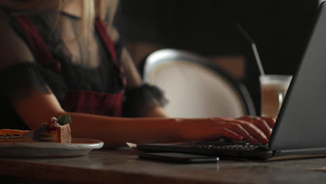
[[[261,75],[261,116],[277,116],[290,85],[291,75]]]

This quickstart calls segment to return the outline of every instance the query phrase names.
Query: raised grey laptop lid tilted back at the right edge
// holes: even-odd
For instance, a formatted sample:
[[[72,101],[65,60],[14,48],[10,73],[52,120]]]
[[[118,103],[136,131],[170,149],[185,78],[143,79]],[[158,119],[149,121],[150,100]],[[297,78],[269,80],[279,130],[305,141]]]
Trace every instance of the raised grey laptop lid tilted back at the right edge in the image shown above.
[[[272,132],[272,150],[326,147],[326,2]]]

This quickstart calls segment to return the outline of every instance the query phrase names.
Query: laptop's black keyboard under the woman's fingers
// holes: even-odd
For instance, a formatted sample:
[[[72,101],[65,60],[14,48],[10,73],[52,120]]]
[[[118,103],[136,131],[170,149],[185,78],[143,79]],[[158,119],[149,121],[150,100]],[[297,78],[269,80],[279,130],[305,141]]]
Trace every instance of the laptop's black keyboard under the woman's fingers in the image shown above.
[[[251,145],[251,144],[235,144],[227,146],[219,145],[205,145],[205,146],[192,146],[192,148],[203,149],[203,150],[215,150],[215,151],[253,151],[253,150],[263,150],[267,151],[269,148],[265,145]]]

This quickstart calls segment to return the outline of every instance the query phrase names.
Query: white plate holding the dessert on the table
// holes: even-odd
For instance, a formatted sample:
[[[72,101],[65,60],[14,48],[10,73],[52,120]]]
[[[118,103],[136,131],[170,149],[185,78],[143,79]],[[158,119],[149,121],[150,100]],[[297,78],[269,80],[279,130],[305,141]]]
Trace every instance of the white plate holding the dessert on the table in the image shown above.
[[[73,157],[87,155],[102,148],[103,142],[95,139],[72,139],[72,143],[56,142],[1,142],[3,157]]]

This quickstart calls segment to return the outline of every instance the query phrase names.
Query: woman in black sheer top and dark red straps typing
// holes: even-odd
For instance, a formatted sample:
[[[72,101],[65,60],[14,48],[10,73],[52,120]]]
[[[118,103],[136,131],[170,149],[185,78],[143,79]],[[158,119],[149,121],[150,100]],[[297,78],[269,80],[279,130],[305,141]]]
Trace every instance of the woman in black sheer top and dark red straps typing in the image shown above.
[[[162,93],[141,84],[112,26],[116,4],[0,0],[0,108],[12,119],[1,128],[36,129],[70,114],[72,137],[108,147],[220,136],[267,144],[274,118],[166,118]]]

